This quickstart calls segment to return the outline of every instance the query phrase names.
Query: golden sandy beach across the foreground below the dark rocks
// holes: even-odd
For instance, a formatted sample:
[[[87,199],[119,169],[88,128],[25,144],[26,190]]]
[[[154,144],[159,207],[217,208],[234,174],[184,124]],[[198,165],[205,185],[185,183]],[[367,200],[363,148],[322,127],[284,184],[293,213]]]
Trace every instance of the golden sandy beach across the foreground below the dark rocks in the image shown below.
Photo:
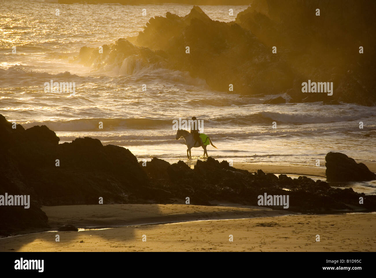
[[[375,214],[289,215],[267,208],[178,204],[42,209],[51,227],[132,226],[2,238],[0,251],[376,251]]]

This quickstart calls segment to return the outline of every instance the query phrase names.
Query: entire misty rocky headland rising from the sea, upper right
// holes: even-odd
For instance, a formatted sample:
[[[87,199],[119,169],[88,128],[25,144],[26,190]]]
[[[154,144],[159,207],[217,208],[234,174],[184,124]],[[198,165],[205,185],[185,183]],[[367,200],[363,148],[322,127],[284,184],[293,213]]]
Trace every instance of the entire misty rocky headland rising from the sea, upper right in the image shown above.
[[[180,70],[222,92],[232,84],[241,95],[288,93],[291,102],[372,106],[375,12],[376,2],[366,0],[258,0],[224,23],[194,6],[184,17],[167,12],[150,18],[132,40],[136,46],[120,39],[103,46],[103,54],[83,47],[77,60],[124,75],[145,67]],[[302,92],[308,80],[333,82],[333,95]]]

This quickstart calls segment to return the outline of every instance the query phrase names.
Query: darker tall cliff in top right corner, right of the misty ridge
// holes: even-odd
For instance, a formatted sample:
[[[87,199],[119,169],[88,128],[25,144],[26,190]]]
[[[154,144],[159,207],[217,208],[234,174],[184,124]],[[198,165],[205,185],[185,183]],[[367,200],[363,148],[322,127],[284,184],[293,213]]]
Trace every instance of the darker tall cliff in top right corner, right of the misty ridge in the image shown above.
[[[320,15],[316,15],[316,9]],[[367,0],[300,1],[288,5],[279,0],[259,0],[235,20],[252,32],[268,49],[277,47],[276,55],[295,72],[289,90],[295,102],[324,99],[376,105],[373,92],[376,81],[376,39],[368,35],[376,27],[373,20],[376,3]],[[361,30],[359,32],[359,30]],[[369,55],[359,53],[359,47]],[[302,82],[333,82],[334,94],[302,93]]]

